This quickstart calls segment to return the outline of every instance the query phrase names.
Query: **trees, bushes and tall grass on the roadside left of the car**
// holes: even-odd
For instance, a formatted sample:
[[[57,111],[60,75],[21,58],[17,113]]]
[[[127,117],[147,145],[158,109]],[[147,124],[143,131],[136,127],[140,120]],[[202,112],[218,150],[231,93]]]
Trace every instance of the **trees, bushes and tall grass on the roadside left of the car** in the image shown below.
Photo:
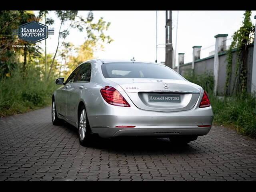
[[[61,39],[63,47],[60,53],[57,46],[54,54],[46,55],[45,64],[40,47],[12,47],[28,45],[27,42],[12,35],[12,30],[26,22],[40,21],[44,14],[48,13],[49,11],[40,11],[37,17],[32,11],[0,11],[0,116],[26,112],[51,103],[52,92],[59,87],[54,80],[60,75],[62,67],[62,64],[55,60],[57,53],[65,61],[63,67],[67,75],[80,62],[93,58],[94,48],[98,44],[112,41],[104,34],[110,23],[106,23],[103,18],[94,22],[92,12],[84,19],[77,15],[78,11],[55,11],[61,21],[58,46]],[[54,20],[47,18],[46,24],[52,25]],[[62,29],[64,24],[68,28]],[[69,35],[70,28],[86,30],[86,41],[78,48],[64,41]],[[40,42],[37,44],[40,46]],[[72,51],[77,51],[78,56],[72,55]]]

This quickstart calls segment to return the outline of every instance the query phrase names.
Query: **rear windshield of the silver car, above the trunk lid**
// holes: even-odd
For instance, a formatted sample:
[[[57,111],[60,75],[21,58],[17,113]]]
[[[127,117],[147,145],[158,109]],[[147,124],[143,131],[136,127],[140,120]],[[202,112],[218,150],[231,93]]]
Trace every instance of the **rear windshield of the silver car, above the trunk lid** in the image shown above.
[[[114,62],[102,64],[105,78],[154,78],[184,80],[170,68],[151,63]]]

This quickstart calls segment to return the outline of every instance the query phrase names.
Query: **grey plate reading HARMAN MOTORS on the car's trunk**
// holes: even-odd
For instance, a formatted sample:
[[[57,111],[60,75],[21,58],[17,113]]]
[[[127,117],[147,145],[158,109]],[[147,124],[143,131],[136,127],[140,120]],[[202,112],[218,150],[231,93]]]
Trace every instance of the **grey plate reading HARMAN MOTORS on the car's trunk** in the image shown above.
[[[180,102],[180,94],[148,94],[148,102]]]

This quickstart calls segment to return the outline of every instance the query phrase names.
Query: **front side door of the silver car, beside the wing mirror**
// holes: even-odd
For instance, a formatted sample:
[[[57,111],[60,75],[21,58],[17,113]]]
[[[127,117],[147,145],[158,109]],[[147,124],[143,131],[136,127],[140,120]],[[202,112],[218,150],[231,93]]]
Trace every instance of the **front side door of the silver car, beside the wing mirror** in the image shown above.
[[[58,102],[57,105],[57,111],[59,114],[67,118],[67,99],[68,99],[68,93],[72,90],[74,90],[74,86],[72,86],[76,75],[78,74],[79,70],[82,66],[78,66],[68,77],[66,80],[66,84],[60,88],[59,94],[58,94]]]

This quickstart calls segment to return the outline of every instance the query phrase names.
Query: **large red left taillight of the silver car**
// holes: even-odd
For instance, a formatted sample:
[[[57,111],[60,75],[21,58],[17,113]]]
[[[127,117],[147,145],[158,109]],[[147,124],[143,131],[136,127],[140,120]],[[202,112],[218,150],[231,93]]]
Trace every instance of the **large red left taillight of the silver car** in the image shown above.
[[[114,87],[106,86],[100,89],[104,100],[110,105],[130,107],[125,98]]]

